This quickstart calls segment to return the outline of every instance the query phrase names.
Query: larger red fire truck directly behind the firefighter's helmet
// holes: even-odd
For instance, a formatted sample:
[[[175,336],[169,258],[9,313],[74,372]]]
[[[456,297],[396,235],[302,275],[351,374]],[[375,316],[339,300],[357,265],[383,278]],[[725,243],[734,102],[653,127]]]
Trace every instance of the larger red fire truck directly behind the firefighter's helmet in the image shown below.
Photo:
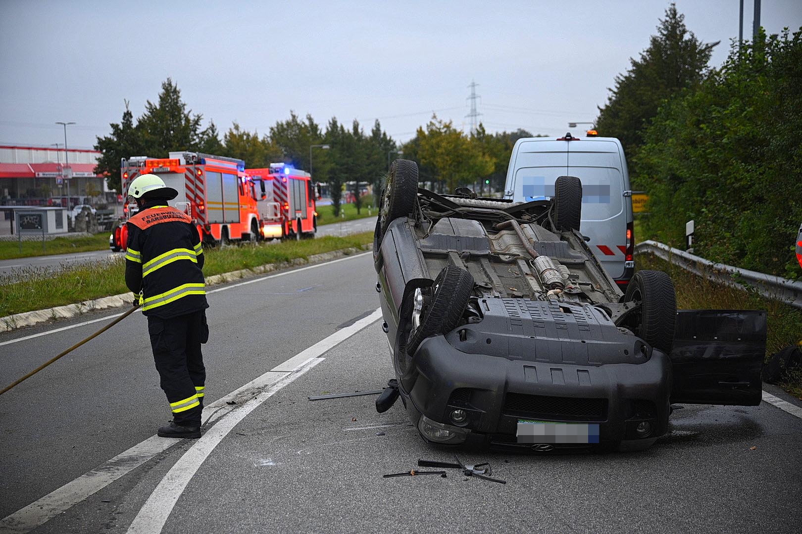
[[[169,204],[192,217],[201,241],[209,245],[261,239],[253,180],[245,174],[245,162],[198,152],[170,152],[165,159],[136,156],[121,162],[123,191],[139,175],[159,175],[178,191]],[[132,208],[129,210],[129,208]],[[127,216],[136,205],[124,207]],[[112,250],[124,250],[128,241],[125,225],[115,228],[109,239]]]

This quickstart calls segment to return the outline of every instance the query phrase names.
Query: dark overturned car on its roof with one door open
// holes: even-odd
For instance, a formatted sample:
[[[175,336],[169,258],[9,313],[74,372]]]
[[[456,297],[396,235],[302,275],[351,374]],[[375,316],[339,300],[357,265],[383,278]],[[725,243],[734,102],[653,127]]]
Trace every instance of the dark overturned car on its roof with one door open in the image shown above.
[[[670,405],[756,405],[764,311],[677,310],[662,271],[626,294],[580,233],[581,181],[512,203],[418,188],[396,160],[374,237],[395,379],[424,440],[535,451],[648,448]]]

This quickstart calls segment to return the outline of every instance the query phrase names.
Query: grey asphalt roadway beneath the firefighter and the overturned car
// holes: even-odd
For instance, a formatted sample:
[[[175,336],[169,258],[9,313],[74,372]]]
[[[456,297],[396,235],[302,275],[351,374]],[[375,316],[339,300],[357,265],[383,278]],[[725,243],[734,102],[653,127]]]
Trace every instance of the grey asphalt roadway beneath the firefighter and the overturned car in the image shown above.
[[[391,377],[381,321],[369,315],[371,255],[253,280],[209,295],[207,403],[261,381],[208,407],[201,440],[166,448],[151,438],[168,412],[140,315],[2,395],[0,517],[43,498],[31,513],[53,518],[35,532],[800,530],[802,419],[766,403],[689,406],[641,453],[464,454],[489,461],[505,485],[456,471],[384,479],[452,452],[423,444],[400,403],[378,414],[371,396],[306,399]],[[99,324],[0,346],[2,382]],[[149,438],[151,452],[137,449],[145,461],[94,494],[71,506],[64,492],[47,497],[105,465],[72,483],[97,484],[114,472],[107,460]],[[10,524],[0,520],[0,532],[26,532]]]

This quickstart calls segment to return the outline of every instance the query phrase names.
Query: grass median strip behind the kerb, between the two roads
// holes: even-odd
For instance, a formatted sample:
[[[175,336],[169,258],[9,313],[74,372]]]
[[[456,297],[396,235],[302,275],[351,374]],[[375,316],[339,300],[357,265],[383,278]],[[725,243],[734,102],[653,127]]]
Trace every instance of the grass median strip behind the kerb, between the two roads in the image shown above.
[[[361,247],[372,242],[373,232],[365,232],[345,237],[326,236],[274,245],[243,245],[206,250],[204,275],[220,275],[265,263],[306,259],[322,252]],[[123,259],[80,263],[55,273],[47,270],[22,271],[21,274],[26,279],[0,286],[0,317],[125,293],[128,287],[125,287],[124,272]]]

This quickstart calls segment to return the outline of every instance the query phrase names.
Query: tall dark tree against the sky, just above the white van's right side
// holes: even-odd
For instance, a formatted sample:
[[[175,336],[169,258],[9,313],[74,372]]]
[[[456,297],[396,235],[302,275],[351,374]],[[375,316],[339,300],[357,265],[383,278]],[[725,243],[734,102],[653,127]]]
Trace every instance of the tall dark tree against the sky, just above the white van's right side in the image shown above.
[[[627,158],[641,145],[642,130],[660,103],[705,78],[707,62],[719,42],[699,41],[684,20],[672,3],[649,47],[637,60],[630,58],[630,69],[616,76],[606,106],[598,108],[596,129],[600,135],[620,139]]]

